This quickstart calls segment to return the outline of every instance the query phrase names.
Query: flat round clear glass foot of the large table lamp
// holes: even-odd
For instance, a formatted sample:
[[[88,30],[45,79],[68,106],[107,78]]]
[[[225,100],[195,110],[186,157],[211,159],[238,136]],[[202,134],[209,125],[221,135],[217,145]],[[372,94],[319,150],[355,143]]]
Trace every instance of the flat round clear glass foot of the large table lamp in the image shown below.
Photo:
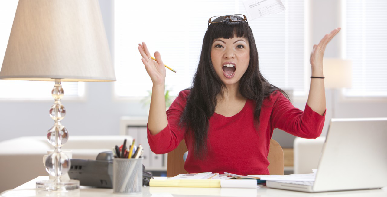
[[[79,180],[66,180],[55,182],[54,180],[41,180],[36,182],[36,188],[46,191],[70,191],[79,189]]]

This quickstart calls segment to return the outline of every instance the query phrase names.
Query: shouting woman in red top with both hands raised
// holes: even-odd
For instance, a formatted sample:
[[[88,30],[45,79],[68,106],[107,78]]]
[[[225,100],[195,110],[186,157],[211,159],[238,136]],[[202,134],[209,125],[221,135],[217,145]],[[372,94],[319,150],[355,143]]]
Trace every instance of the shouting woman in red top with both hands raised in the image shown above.
[[[209,20],[193,86],[179,93],[165,112],[166,70],[160,53],[151,60],[139,44],[152,79],[148,142],[156,154],[175,149],[184,138],[188,173],[270,174],[269,142],[274,128],[304,138],[319,137],[325,120],[322,58],[334,29],[310,55],[312,79],[305,111],[295,108],[260,74],[258,53],[246,17],[227,15]]]

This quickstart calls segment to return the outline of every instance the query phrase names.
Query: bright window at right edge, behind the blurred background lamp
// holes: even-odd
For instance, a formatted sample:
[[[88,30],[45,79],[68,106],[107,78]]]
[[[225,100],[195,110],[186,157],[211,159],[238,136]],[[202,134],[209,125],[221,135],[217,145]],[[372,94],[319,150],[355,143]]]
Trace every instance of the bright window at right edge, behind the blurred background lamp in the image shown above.
[[[387,96],[387,2],[343,1],[344,58],[352,60],[346,96]]]

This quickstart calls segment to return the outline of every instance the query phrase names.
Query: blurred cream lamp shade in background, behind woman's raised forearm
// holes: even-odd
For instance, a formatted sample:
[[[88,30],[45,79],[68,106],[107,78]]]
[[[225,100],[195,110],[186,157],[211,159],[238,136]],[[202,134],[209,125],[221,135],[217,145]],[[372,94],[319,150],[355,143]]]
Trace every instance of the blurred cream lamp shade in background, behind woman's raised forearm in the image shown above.
[[[339,89],[351,87],[352,85],[352,62],[351,60],[324,58],[323,69],[325,77],[325,88]]]

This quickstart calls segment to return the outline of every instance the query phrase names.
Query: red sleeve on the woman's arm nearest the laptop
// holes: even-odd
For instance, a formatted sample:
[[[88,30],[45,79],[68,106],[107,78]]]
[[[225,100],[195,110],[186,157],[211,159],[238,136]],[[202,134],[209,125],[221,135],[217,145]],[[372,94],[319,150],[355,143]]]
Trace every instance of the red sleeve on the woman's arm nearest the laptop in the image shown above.
[[[321,135],[326,110],[324,115],[320,115],[306,104],[302,111],[293,106],[282,93],[277,92],[276,96],[271,115],[272,128],[303,138],[317,138]]]

